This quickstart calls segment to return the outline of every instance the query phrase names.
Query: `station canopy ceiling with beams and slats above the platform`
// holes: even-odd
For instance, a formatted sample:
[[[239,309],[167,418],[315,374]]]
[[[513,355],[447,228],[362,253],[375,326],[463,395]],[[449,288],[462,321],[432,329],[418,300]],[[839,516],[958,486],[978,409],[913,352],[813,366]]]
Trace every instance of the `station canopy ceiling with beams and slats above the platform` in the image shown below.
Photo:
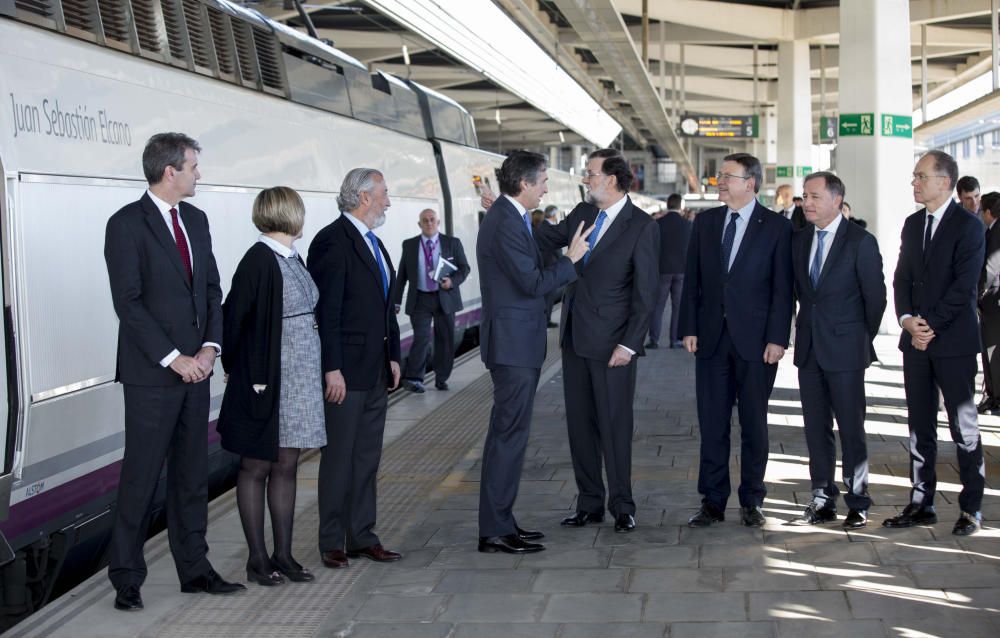
[[[488,0],[422,0],[421,4],[429,7],[425,17],[441,18],[444,24],[456,12],[457,3],[474,2]],[[401,4],[405,3],[402,0]],[[272,18],[303,26],[291,0],[247,4]],[[332,41],[371,70],[409,77],[469,109],[484,148],[502,151],[515,146],[605,143],[595,139],[596,134],[582,135],[584,127],[567,121],[565,114],[560,114],[562,121],[550,115],[553,110],[545,108],[544,101],[524,95],[503,78],[464,61],[455,49],[428,37],[425,26],[403,23],[398,14],[386,10],[391,4],[387,0],[305,0],[303,8],[319,37]],[[804,39],[810,43],[814,119],[818,120],[821,103],[828,114],[835,111],[838,1],[647,0],[645,4],[648,35],[644,65],[643,0],[492,2],[610,116],[601,120],[605,125],[613,120],[615,128],[621,127],[627,147],[670,155],[685,173],[690,164],[683,145],[678,144],[675,104],[679,113],[720,115],[747,115],[775,106],[779,41]],[[988,0],[911,0],[915,108],[920,104],[922,27],[926,26],[928,100],[933,100],[989,71],[989,16]],[[490,25],[485,27],[489,32]],[[820,81],[821,59],[826,68],[825,83]],[[531,69],[523,72],[531,73]]]

